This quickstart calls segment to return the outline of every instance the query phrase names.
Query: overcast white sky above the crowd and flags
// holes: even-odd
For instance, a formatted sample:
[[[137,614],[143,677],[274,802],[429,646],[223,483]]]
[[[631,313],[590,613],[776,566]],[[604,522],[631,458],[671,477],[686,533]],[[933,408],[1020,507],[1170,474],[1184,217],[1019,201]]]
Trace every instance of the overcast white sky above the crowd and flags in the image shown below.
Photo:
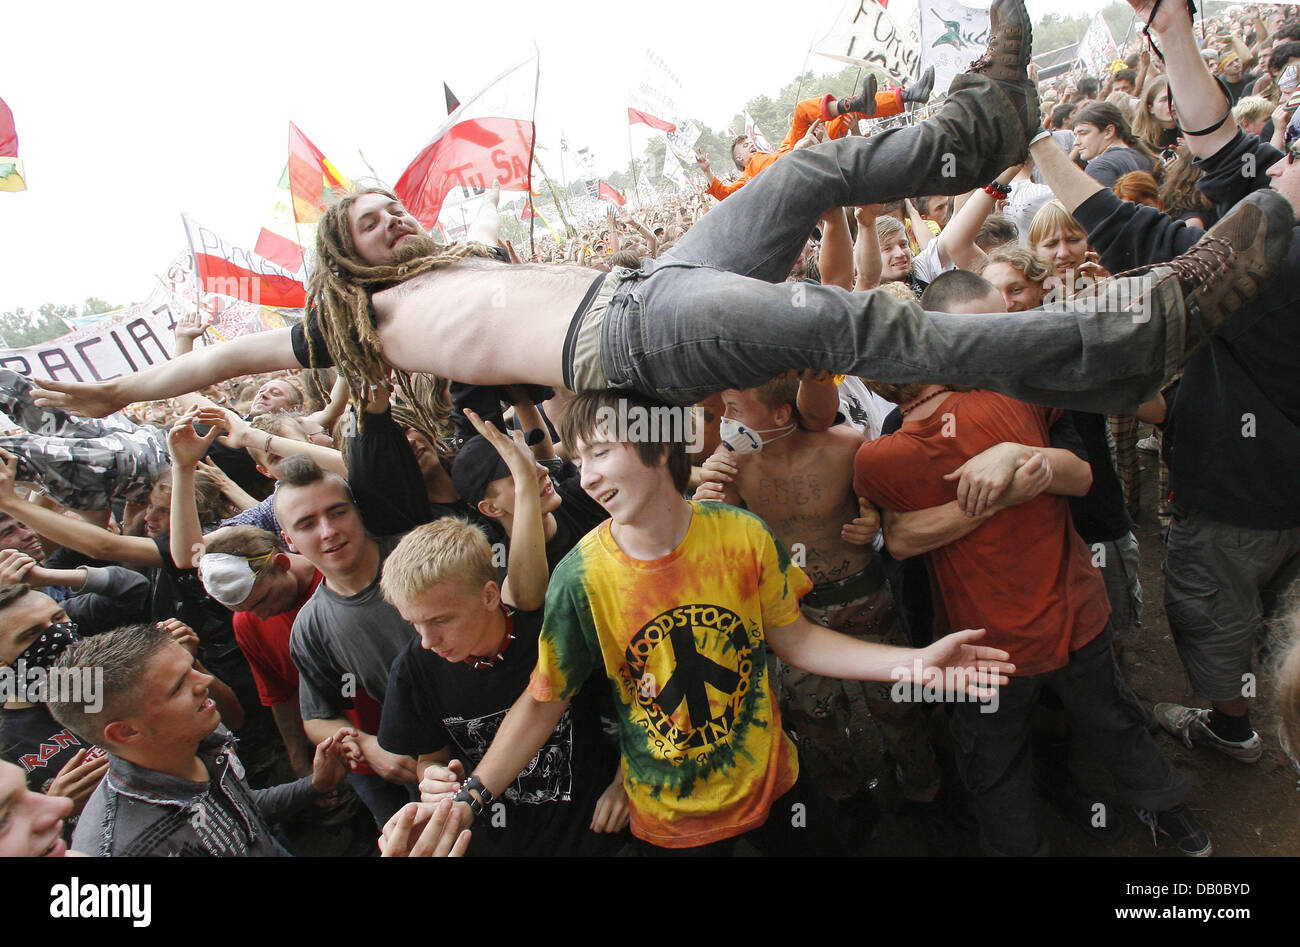
[[[1102,5],[1028,0],[1034,18]],[[748,99],[775,94],[805,68],[840,7],[12,4],[0,98],[14,113],[29,190],[0,194],[0,311],[88,295],[143,299],[185,246],[182,211],[251,247],[285,165],[290,121],[343,173],[368,173],[360,150],[391,183],[446,118],[443,79],[468,98],[536,42],[540,140],[558,153],[563,130],[608,170],[628,159],[625,90],[640,78],[645,46],[681,77],[682,112],[722,127]],[[838,64],[814,56],[807,68]],[[779,138],[784,129],[766,131]]]

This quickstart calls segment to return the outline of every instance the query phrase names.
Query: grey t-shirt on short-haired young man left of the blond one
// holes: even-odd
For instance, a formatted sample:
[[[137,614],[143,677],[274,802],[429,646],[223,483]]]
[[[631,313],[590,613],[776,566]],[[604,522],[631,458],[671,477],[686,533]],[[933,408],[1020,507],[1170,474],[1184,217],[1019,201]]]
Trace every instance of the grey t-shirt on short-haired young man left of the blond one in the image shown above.
[[[384,536],[380,574],[400,536]],[[322,581],[294,619],[289,653],[298,666],[303,719],[342,717],[356,688],[384,702],[393,660],[416,635],[398,610],[384,601],[380,578],[355,596],[330,592]]]

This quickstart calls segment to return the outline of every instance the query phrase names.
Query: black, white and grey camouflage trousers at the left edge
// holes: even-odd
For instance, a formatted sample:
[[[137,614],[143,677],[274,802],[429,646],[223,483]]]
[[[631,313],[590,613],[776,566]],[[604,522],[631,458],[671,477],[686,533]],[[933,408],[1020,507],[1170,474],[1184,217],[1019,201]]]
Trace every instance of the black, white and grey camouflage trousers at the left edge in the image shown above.
[[[170,464],[165,431],[121,414],[77,418],[40,407],[31,388],[25,375],[0,369],[0,411],[30,432],[0,436],[0,449],[18,458],[18,480],[38,484],[70,510],[148,500]]]

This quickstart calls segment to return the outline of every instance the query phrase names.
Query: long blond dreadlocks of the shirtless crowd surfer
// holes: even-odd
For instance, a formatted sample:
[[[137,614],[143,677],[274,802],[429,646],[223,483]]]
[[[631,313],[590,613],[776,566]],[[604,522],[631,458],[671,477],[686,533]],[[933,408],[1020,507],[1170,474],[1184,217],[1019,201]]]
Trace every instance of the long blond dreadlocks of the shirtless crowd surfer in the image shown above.
[[[308,308],[315,308],[315,320],[325,337],[335,366],[347,377],[347,392],[359,408],[365,405],[367,388],[390,386],[390,375],[406,388],[411,375],[393,368],[380,351],[380,333],[370,315],[369,294],[413,276],[441,267],[450,267],[465,256],[489,256],[490,247],[482,243],[434,243],[428,256],[398,264],[374,267],[356,252],[352,241],[352,221],[348,209],[356,199],[367,194],[382,194],[396,202],[387,187],[361,187],[321,217],[316,229],[317,265],[308,282]],[[312,319],[308,312],[308,319]],[[312,366],[316,368],[317,366]]]

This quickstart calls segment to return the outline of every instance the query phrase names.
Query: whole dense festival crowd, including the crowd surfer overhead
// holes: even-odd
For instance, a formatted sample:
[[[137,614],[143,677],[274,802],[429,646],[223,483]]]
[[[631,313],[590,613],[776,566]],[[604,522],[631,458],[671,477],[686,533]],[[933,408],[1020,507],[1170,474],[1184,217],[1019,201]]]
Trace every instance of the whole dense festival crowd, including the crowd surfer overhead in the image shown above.
[[[887,779],[1209,855],[1169,739],[1300,753],[1300,10],[1138,7],[1037,82],[997,0],[946,98],[532,259],[363,187],[300,325],[0,372],[0,853],[852,855]]]

